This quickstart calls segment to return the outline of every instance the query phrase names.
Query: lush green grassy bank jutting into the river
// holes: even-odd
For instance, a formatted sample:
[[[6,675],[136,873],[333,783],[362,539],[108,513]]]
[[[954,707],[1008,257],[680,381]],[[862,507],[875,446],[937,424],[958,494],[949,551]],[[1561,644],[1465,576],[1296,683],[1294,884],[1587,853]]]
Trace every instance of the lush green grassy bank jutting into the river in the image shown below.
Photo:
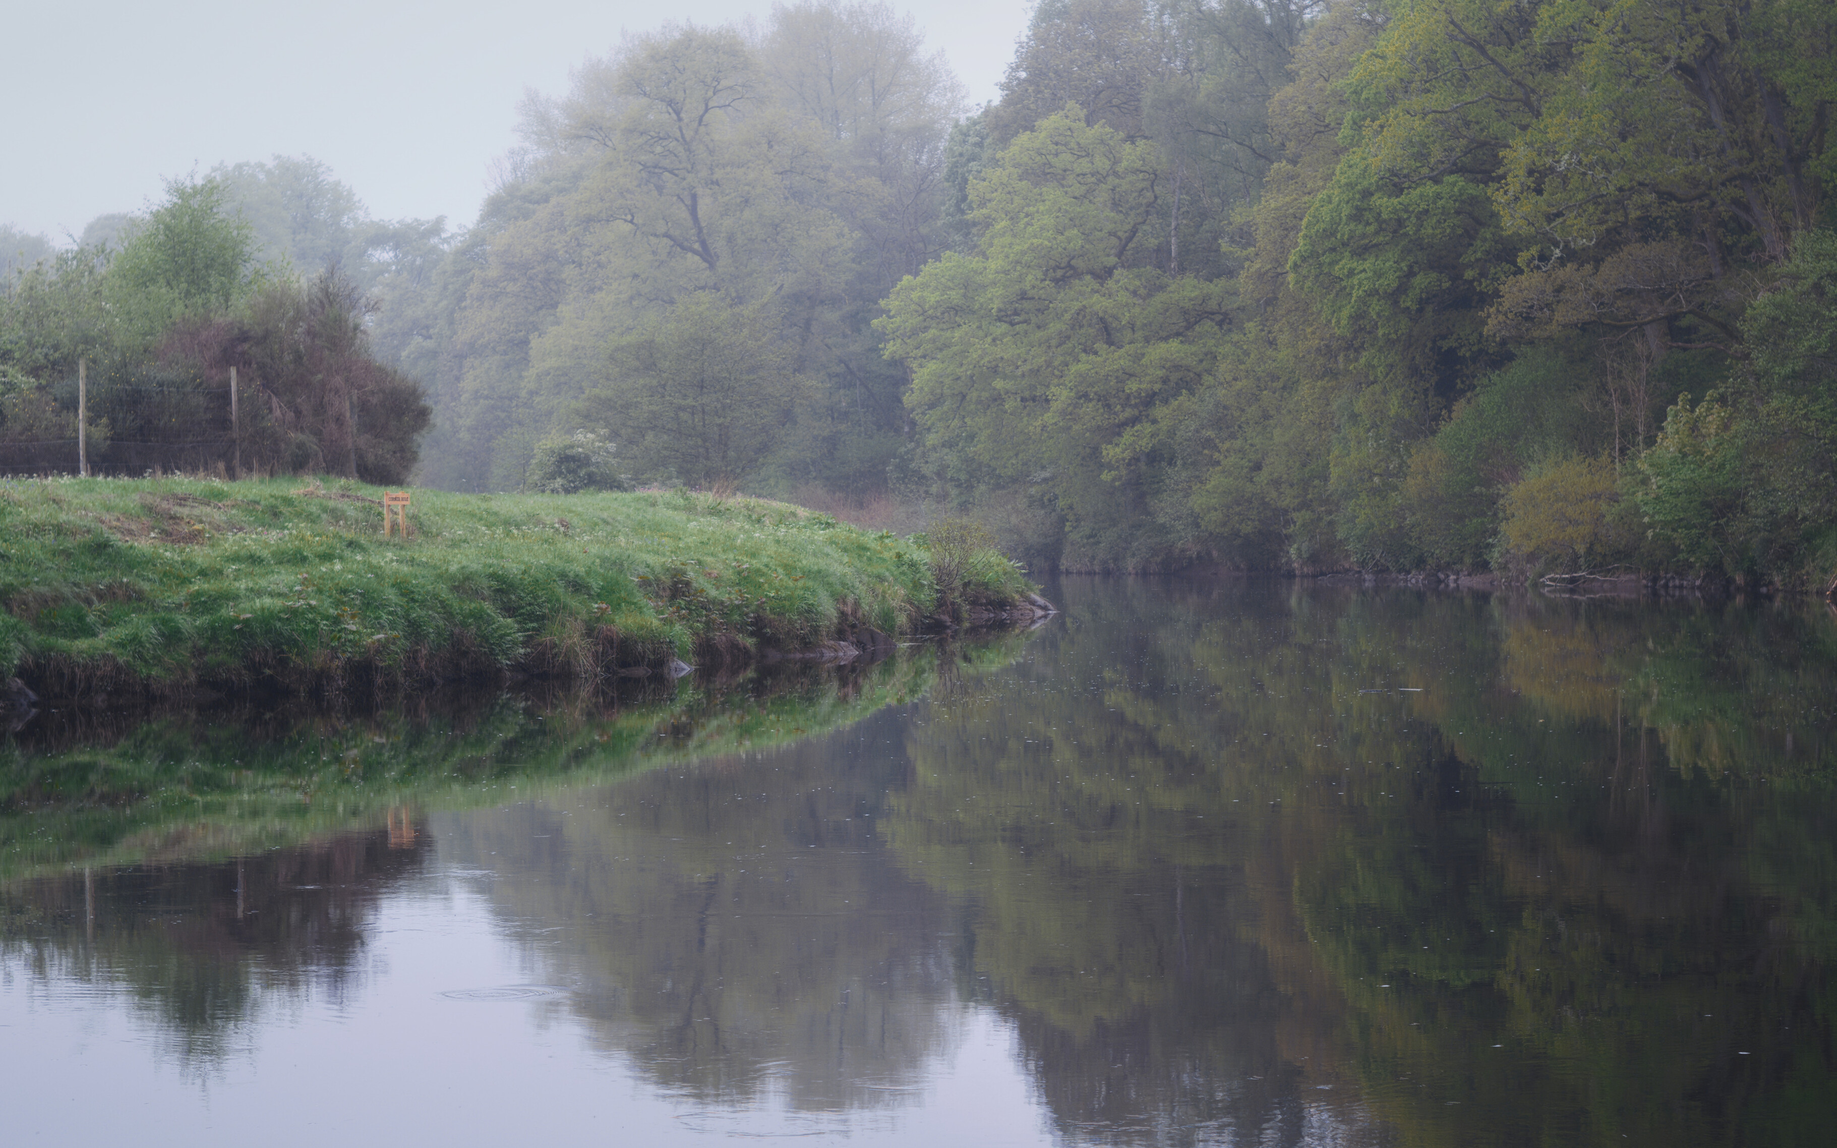
[[[948,602],[922,540],[693,492],[382,490],[299,479],[0,483],[0,678],[50,696],[345,689],[746,661],[918,630]],[[1018,601],[1010,564],[959,597]]]

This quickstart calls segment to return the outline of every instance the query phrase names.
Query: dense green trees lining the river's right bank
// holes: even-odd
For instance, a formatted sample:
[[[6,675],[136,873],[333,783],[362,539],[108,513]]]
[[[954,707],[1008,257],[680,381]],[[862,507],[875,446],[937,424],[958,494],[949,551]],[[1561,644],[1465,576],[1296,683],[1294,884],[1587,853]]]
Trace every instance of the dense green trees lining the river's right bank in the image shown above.
[[[880,323],[931,474],[1069,566],[1828,577],[1833,22],[1042,6]]]

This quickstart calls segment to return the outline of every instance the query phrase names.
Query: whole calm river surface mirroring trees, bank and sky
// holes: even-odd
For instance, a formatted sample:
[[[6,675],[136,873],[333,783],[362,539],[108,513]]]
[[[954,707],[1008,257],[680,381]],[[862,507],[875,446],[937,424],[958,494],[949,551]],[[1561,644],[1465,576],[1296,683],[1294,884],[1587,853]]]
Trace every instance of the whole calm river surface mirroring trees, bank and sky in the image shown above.
[[[1822,606],[1053,590],[667,696],[39,715],[7,1142],[1837,1137]]]

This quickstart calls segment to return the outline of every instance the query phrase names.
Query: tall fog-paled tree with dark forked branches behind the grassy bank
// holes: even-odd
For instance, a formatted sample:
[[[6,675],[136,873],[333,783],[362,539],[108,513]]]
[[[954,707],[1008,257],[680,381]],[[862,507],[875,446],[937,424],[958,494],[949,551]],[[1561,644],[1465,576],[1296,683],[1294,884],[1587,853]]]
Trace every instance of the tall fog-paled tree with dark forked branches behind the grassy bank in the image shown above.
[[[904,375],[869,323],[944,244],[957,101],[911,20],[874,4],[783,7],[751,39],[630,37],[564,97],[525,101],[516,174],[445,264],[450,331],[426,323],[439,481],[520,483],[601,384],[608,340],[713,292],[737,310],[770,299],[775,343],[814,384],[777,450],[735,478],[882,487]]]

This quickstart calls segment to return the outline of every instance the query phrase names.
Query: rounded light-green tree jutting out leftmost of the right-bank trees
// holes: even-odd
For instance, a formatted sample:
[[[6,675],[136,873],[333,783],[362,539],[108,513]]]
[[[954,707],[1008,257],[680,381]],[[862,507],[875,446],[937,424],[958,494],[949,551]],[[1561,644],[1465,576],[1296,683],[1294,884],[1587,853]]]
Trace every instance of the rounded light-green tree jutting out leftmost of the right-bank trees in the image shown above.
[[[974,494],[1051,472],[1091,560],[1146,553],[1155,413],[1200,386],[1229,316],[1229,285],[1144,266],[1159,193],[1154,143],[1067,107],[970,184],[977,252],[904,281],[876,323],[939,478]]]

